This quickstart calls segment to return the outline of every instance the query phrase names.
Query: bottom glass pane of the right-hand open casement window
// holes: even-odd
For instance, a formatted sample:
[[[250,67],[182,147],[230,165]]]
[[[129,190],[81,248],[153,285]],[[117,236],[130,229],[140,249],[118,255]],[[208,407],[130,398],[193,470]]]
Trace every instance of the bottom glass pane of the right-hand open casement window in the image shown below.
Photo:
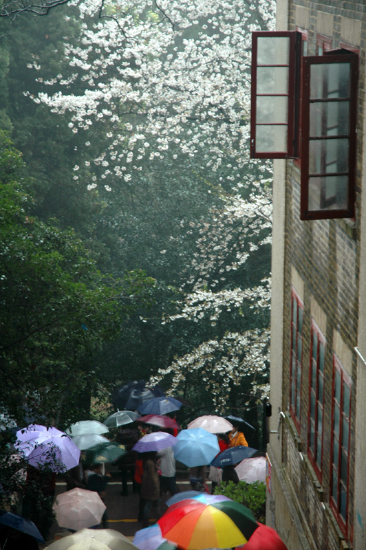
[[[348,176],[309,178],[309,210],[344,210],[347,208]]]

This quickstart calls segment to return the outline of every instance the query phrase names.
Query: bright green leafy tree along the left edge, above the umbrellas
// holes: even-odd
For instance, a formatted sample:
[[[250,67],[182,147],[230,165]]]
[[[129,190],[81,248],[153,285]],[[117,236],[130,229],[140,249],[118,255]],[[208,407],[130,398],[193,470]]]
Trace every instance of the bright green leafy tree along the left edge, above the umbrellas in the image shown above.
[[[73,230],[29,215],[22,170],[0,133],[2,405],[18,421],[28,411],[62,425],[87,409],[100,375],[88,364],[92,353],[140,305],[151,305],[155,282],[140,270],[120,279],[101,274]]]

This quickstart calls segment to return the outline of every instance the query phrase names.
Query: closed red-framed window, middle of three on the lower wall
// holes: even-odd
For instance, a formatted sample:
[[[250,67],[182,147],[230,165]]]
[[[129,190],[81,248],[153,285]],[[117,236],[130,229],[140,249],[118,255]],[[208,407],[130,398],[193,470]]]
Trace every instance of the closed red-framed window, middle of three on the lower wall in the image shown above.
[[[308,457],[321,481],[323,467],[325,338],[312,319],[309,373]]]

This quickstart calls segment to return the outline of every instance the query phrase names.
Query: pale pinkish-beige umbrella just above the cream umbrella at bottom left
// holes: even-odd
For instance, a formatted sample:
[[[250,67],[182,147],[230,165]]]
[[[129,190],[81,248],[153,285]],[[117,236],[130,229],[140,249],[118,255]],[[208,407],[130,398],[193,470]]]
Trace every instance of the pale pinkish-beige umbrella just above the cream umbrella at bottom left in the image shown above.
[[[83,527],[98,525],[106,505],[97,492],[76,487],[59,494],[53,509],[60,527],[78,531]]]

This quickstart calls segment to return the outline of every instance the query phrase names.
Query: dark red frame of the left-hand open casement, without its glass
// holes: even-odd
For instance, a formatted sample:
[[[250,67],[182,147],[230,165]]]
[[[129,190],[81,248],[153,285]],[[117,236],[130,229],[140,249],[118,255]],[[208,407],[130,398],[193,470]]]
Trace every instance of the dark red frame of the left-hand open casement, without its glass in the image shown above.
[[[259,47],[258,42],[261,39],[283,39],[288,38],[288,58],[286,63],[258,63]],[[257,82],[258,69],[272,69],[281,71],[288,67],[288,87],[281,93],[272,91],[259,91]],[[297,96],[297,87],[299,86],[299,72],[301,69],[301,33],[297,31],[255,31],[252,32],[252,84],[251,84],[251,112],[250,112],[250,156],[252,158],[286,158],[297,156],[297,147],[299,140],[297,139],[296,129],[299,127],[299,102]],[[278,78],[278,81],[283,80]],[[287,122],[257,122],[259,109],[257,101],[260,98],[287,98]],[[274,109],[275,110],[275,109]],[[260,127],[269,129],[271,126],[278,128],[287,127],[286,145],[281,151],[273,151],[272,149],[262,150],[260,146],[260,138],[257,139],[257,131]],[[266,130],[263,131],[266,134]]]

